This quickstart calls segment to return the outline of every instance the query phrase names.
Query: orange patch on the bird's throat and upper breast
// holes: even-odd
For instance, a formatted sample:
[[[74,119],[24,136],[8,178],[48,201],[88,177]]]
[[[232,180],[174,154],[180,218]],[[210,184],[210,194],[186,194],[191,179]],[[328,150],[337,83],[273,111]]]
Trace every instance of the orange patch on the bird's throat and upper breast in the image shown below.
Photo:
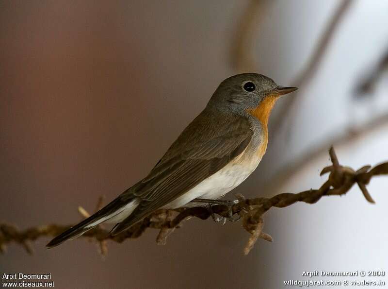
[[[255,118],[259,119],[262,127],[263,127],[263,143],[261,147],[258,148],[257,153],[262,157],[267,149],[268,144],[268,119],[271,115],[272,108],[277,101],[278,96],[267,96],[263,101],[259,103],[259,105],[252,110],[248,110],[248,113]]]

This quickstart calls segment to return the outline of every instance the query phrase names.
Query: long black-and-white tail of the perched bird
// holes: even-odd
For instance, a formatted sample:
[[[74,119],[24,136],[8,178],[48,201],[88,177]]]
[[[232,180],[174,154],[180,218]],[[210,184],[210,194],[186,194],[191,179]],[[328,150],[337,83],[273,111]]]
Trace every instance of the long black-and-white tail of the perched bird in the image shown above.
[[[136,204],[135,204],[136,203]],[[81,221],[77,225],[71,227],[67,231],[63,232],[62,234],[58,235],[57,237],[53,238],[47,245],[47,249],[56,247],[66,240],[71,240],[74,238],[77,238],[81,236],[86,231],[89,231],[93,227],[97,226],[98,224],[107,221],[109,219],[112,219],[114,217],[117,217],[120,213],[123,213],[125,215],[129,215],[131,211],[137,206],[136,199],[123,202],[123,200],[120,199],[120,197],[113,200],[111,203],[107,204],[105,207],[97,211],[95,214],[90,216],[89,218]]]

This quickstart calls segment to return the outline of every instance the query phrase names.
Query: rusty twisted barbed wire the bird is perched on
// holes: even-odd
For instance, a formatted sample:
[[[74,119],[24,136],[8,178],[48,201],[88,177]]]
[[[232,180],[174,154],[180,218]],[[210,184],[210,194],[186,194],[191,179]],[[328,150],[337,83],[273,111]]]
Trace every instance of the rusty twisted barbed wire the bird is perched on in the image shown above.
[[[349,167],[344,167],[339,164],[336,153],[333,147],[330,148],[329,154],[332,165],[323,168],[321,175],[330,173],[324,184],[318,189],[309,189],[299,193],[282,193],[272,198],[253,198],[244,199],[241,195],[237,196],[239,202],[232,206],[233,214],[238,214],[241,217],[243,228],[251,234],[245,248],[244,254],[247,255],[253,248],[258,238],[267,241],[272,241],[271,236],[264,233],[263,230],[263,215],[272,207],[283,208],[297,202],[304,202],[307,204],[314,204],[318,202],[323,196],[329,195],[343,195],[346,194],[353,185],[357,184],[363,193],[365,199],[374,203],[366,186],[369,184],[371,178],[376,175],[388,174],[388,162],[382,163],[373,169],[371,166],[364,166],[359,170],[353,170]],[[98,201],[100,207],[102,201]],[[89,214],[84,209],[79,209],[84,217]],[[212,207],[212,211],[220,216],[228,217],[229,207],[224,204],[217,204]],[[97,226],[90,231],[87,231],[82,237],[89,238],[100,244],[101,254],[107,253],[106,241],[113,240],[121,243],[127,238],[140,237],[147,228],[158,229],[159,235],[157,237],[158,244],[165,244],[167,237],[182,225],[182,222],[190,217],[197,217],[206,220],[211,216],[209,210],[205,207],[193,208],[179,208],[177,210],[158,210],[157,212],[146,217],[130,227],[127,231],[120,235],[112,237],[108,230],[101,226]],[[47,226],[38,226],[26,230],[19,230],[14,225],[0,224],[0,250],[4,252],[6,245],[9,243],[18,243],[24,249],[32,254],[32,247],[30,241],[34,241],[41,237],[54,237],[69,229],[71,225],[56,225],[51,224]],[[104,242],[104,249],[101,249],[101,242]]]

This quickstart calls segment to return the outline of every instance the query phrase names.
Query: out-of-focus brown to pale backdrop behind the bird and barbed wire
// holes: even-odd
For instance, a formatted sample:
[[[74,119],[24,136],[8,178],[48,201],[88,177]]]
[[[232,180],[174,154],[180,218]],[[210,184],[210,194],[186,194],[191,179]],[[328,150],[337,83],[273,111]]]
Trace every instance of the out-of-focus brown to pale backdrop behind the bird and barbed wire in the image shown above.
[[[0,1],[0,221],[80,221],[79,205],[93,211],[144,177],[240,72],[299,90],[277,103],[267,154],[235,193],[320,187],[331,144],[355,169],[388,160],[387,11],[384,0]],[[148,230],[104,259],[85,239],[49,251],[39,239],[33,256],[10,245],[0,272],[49,272],[56,288],[272,289],[304,270],[387,270],[387,184],[372,179],[374,205],[355,187],[270,210],[274,242],[247,256],[241,223],[192,219],[163,247]]]

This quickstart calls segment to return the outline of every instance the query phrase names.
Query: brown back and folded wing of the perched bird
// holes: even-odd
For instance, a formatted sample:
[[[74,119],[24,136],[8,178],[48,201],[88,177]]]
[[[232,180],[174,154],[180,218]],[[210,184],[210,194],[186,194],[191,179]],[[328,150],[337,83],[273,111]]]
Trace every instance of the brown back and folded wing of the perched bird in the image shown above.
[[[222,169],[245,150],[252,134],[247,119],[203,111],[146,178],[121,195],[124,199],[139,197],[141,202],[112,234],[119,234]]]

